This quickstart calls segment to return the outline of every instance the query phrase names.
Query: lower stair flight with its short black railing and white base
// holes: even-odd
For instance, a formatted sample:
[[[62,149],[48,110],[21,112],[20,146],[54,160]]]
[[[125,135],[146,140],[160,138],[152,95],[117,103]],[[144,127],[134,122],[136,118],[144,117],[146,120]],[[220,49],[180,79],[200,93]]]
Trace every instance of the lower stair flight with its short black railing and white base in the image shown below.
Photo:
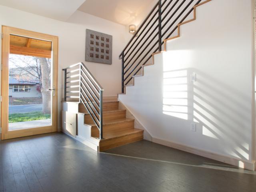
[[[84,63],[63,70],[65,79],[62,110],[83,116],[82,129],[86,129],[87,134],[82,137],[87,137],[88,146],[96,145],[96,150],[104,151],[143,139],[143,130],[134,128],[134,119],[126,118],[126,109],[119,109],[117,97],[103,97],[104,89]],[[79,130],[77,126],[80,122],[75,127],[76,120],[68,118],[65,117],[63,124],[73,129],[70,132],[76,132],[73,135],[75,138],[80,136],[76,131]]]

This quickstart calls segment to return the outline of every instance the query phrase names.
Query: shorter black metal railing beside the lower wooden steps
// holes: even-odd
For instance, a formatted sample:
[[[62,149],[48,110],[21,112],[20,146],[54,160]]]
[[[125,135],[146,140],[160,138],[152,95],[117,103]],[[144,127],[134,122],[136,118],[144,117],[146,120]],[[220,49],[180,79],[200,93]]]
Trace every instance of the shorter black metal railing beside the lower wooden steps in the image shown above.
[[[99,139],[103,139],[104,89],[82,62],[62,70],[64,71],[64,101],[67,101],[67,98],[79,99],[98,128]]]

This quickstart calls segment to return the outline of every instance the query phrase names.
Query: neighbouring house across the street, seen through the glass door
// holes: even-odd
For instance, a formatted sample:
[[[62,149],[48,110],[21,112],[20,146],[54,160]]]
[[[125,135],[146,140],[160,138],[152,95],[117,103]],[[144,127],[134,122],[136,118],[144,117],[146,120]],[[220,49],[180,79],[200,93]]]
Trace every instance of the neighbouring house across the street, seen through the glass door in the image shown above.
[[[34,80],[16,80],[9,78],[9,96],[10,97],[42,97],[41,92],[36,88],[39,82]]]

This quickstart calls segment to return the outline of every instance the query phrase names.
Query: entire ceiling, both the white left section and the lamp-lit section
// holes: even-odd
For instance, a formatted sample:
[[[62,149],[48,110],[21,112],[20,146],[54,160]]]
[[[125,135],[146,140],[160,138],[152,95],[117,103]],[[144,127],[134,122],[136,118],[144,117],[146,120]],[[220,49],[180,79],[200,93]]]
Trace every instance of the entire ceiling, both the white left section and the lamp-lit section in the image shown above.
[[[0,5],[67,21],[76,10],[122,25],[130,24],[154,0],[0,0]]]

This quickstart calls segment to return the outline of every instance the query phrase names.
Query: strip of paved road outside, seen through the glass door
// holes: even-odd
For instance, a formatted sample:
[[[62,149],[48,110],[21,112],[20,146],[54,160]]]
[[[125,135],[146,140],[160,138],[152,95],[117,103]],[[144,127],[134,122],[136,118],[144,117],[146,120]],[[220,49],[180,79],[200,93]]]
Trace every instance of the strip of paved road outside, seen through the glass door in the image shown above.
[[[42,111],[42,104],[9,105],[9,114]]]

